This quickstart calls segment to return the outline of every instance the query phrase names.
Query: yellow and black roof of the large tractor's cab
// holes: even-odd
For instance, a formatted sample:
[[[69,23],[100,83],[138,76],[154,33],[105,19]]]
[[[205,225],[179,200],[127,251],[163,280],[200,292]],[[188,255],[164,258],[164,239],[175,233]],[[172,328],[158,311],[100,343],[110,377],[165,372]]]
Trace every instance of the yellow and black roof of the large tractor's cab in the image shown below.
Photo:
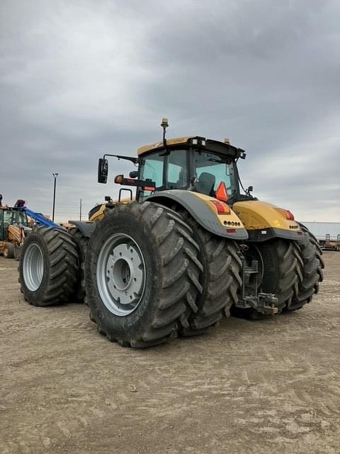
[[[220,153],[229,157],[246,157],[246,153],[241,148],[234,147],[229,143],[221,142],[220,140],[205,139],[198,135],[187,135],[186,137],[177,137],[172,139],[166,139],[166,148],[177,148],[181,145],[198,147],[211,151],[212,153]],[[142,156],[148,153],[152,153],[156,150],[164,149],[163,141],[152,143],[151,145],[145,145],[137,150],[137,155]]]

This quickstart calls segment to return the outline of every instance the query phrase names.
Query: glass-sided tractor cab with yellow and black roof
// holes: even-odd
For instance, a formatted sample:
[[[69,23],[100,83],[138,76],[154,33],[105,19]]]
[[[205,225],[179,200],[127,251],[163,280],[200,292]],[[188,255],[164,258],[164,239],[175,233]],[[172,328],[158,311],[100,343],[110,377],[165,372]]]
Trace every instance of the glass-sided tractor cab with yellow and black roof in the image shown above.
[[[186,189],[233,201],[239,194],[236,160],[243,150],[229,143],[201,137],[175,138],[138,150],[139,175],[145,183],[138,190],[138,199],[151,192]],[[147,182],[154,182],[148,188]]]

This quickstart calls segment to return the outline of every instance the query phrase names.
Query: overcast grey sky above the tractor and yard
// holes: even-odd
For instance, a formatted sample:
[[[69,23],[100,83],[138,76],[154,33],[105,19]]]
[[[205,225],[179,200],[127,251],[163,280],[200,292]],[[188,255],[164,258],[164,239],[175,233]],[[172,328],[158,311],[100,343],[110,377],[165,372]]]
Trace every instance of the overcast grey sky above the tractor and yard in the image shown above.
[[[0,193],[79,218],[162,137],[244,148],[254,195],[340,221],[340,2],[1,0]]]

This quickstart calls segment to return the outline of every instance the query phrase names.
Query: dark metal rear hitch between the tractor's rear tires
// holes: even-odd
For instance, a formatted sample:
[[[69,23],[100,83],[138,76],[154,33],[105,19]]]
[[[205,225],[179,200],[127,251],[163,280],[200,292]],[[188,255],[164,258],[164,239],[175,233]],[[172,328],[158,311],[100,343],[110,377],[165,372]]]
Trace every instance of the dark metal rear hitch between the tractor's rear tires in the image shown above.
[[[246,260],[243,260],[242,289],[236,306],[240,309],[251,307],[266,315],[278,314],[278,308],[276,307],[278,298],[272,293],[259,292],[260,282],[259,262],[251,260],[251,265],[249,266],[246,264]]]

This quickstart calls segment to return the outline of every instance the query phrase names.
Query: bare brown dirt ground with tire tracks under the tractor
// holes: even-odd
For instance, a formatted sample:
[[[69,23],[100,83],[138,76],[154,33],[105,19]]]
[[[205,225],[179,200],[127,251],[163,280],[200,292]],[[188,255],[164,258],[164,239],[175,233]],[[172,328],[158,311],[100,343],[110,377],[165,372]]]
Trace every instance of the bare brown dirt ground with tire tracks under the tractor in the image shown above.
[[[147,350],[35,308],[0,258],[0,452],[340,453],[340,253],[311,304]]]

